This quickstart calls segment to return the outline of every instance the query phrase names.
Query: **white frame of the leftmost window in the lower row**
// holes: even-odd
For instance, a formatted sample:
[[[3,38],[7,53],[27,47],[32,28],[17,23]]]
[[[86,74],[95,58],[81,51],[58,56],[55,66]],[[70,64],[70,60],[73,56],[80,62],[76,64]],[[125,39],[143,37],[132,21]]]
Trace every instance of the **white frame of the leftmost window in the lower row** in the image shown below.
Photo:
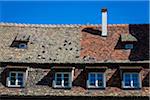
[[[11,80],[10,80],[10,77],[11,77],[11,73],[15,73],[18,77],[18,73],[22,73],[23,74],[23,85],[18,85],[18,78],[16,78],[16,83],[15,85],[12,85],[10,84]],[[25,86],[25,80],[26,80],[26,72],[23,72],[23,71],[10,71],[9,72],[9,77],[7,77],[7,86],[8,87],[24,87]]]

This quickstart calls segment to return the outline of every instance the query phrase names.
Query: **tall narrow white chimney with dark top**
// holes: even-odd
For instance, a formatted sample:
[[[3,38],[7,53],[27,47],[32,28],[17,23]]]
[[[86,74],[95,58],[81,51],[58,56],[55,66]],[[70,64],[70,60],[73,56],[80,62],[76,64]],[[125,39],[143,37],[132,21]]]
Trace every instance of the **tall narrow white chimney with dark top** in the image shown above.
[[[102,36],[107,36],[107,9],[102,8]]]

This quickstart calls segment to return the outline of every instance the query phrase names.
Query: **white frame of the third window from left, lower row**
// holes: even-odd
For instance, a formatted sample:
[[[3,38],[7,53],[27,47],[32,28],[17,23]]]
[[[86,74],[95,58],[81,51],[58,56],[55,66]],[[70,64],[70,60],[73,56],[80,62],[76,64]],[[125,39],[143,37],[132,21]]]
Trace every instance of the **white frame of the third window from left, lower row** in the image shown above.
[[[96,75],[96,82],[95,82],[95,86],[91,86],[90,85],[90,74],[95,74]],[[102,74],[102,80],[103,80],[103,86],[98,86],[98,80],[97,80],[97,74]],[[87,88],[105,88],[106,87],[106,76],[105,73],[103,72],[89,72],[88,73],[88,79],[87,79]]]

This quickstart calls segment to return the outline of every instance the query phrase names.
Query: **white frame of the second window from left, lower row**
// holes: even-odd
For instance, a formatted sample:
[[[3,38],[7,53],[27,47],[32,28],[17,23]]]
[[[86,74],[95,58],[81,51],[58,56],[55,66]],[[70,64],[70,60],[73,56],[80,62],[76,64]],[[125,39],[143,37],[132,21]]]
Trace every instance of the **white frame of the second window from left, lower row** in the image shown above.
[[[61,74],[61,76],[62,76],[61,85],[56,85],[57,74]],[[64,74],[69,75],[69,85],[68,86],[64,86]],[[53,87],[54,88],[71,88],[72,87],[72,73],[71,72],[55,72],[55,78],[53,80]]]

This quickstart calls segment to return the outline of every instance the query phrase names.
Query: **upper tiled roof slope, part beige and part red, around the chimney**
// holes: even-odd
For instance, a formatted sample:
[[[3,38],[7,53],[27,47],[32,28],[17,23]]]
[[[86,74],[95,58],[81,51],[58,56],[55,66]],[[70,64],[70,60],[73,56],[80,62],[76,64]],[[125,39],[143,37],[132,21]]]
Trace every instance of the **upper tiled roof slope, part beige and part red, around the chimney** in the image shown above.
[[[91,28],[90,31],[85,28]],[[102,37],[101,25],[36,25],[0,23],[0,62],[104,63],[147,61],[148,24],[109,24]],[[29,38],[27,49],[10,47],[18,34]],[[137,38],[135,49],[117,49],[121,34]],[[130,36],[130,35],[128,35]],[[139,49],[140,48],[140,49]],[[142,49],[141,49],[142,48]]]

